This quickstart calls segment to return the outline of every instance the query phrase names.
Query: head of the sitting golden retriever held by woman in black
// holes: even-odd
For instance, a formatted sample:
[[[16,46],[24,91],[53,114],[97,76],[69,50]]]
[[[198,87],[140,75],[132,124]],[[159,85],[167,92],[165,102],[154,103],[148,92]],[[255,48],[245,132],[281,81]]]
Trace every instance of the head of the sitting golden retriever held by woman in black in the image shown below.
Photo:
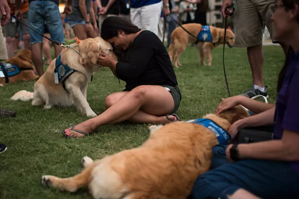
[[[112,56],[114,60],[117,60],[116,55],[113,53],[112,45],[101,37],[82,40],[79,44],[79,51],[82,59],[88,66],[99,66],[97,60],[101,52],[104,52],[107,55]]]

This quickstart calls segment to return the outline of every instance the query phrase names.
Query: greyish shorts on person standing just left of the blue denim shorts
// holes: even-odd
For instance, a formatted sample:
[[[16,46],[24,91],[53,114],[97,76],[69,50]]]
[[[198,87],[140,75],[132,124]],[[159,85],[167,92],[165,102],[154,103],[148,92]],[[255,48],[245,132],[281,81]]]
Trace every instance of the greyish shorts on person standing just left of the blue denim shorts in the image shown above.
[[[15,22],[12,22],[12,20],[15,20],[15,19],[13,17],[11,17],[9,22],[6,24],[6,36],[7,37],[16,37],[16,33],[17,33],[16,24],[18,24],[20,26],[22,35],[29,34],[29,28],[28,27],[24,26],[20,22],[15,24]],[[28,22],[28,11],[23,13],[22,22],[25,23],[28,26],[28,24],[29,24],[29,22]]]

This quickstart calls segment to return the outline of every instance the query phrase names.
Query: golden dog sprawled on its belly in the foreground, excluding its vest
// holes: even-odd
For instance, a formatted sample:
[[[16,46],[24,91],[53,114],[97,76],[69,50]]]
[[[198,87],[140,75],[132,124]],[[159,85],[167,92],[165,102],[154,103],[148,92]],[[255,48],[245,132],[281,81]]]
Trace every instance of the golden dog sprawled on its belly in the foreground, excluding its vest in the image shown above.
[[[223,129],[249,116],[241,106],[220,115],[208,114]],[[150,126],[150,136],[140,147],[93,161],[81,160],[84,170],[69,178],[42,176],[45,186],[75,192],[88,187],[100,199],[186,199],[196,178],[211,166],[212,148],[219,142],[204,126],[174,122]]]

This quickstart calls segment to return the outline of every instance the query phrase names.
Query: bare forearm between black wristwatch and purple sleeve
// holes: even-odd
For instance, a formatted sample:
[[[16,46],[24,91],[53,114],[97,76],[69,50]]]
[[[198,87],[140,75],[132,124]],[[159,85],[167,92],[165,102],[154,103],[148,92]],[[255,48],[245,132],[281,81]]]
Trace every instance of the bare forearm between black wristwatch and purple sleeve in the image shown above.
[[[281,140],[270,140],[251,144],[239,144],[239,157],[277,161],[299,160],[299,133],[284,130]]]

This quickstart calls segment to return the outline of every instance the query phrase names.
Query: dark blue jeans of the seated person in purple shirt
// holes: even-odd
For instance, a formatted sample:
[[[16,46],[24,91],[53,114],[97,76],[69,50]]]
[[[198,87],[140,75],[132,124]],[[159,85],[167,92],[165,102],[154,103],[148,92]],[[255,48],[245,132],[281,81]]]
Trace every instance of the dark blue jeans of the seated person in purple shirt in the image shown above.
[[[288,162],[244,159],[228,163],[226,147],[213,147],[211,170],[196,179],[188,199],[226,199],[240,188],[264,199],[299,198],[299,177]]]

